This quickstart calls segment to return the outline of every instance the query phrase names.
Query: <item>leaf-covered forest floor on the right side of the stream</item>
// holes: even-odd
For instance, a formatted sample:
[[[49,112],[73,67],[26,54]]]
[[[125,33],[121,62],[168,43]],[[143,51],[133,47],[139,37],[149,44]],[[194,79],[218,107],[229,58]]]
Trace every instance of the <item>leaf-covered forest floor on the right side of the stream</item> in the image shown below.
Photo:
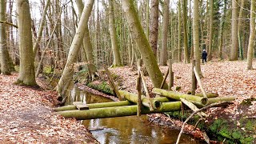
[[[255,60],[254,68],[256,68]],[[206,114],[208,114],[208,118],[205,120],[206,123],[218,119],[223,120],[214,123],[217,128],[215,126],[210,127],[210,129],[215,130],[216,133],[218,131],[223,137],[237,140],[237,142],[256,142],[256,70],[246,70],[245,61],[218,60],[202,64],[201,69],[203,74],[202,85],[206,93],[218,93],[219,97],[236,97],[234,104],[226,108],[211,108],[206,111]],[[162,74],[165,74],[168,67],[160,66],[160,70]],[[110,71],[112,74],[118,75],[116,83],[119,89],[137,93],[136,78],[138,75],[136,68],[123,66],[110,68]],[[173,71],[174,87],[172,87],[172,90],[187,94],[191,89],[191,64],[174,63]],[[167,78],[166,81],[168,82],[169,79]],[[146,77],[146,84],[149,90],[153,89],[149,77]],[[175,90],[176,87],[180,87],[180,89]],[[199,88],[196,93],[201,93]],[[150,114],[150,121],[165,123],[172,125],[172,127],[182,127],[182,122],[169,118],[166,114]],[[226,127],[222,127],[222,125],[229,125],[232,130],[226,130]],[[198,129],[194,130],[194,126],[186,125],[185,132],[199,134],[199,137],[200,135],[202,137],[202,133],[198,132]]]

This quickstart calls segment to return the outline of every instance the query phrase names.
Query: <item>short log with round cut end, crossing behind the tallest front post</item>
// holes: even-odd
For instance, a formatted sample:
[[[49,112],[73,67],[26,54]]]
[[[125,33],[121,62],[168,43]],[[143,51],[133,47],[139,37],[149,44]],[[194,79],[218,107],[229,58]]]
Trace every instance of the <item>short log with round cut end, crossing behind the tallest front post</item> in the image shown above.
[[[118,90],[121,96],[127,99],[130,102],[137,103],[138,96],[137,94],[130,93],[125,90]],[[153,104],[154,109],[159,109],[162,106],[162,102],[169,102],[168,98],[151,98],[151,102]],[[146,107],[150,107],[150,99],[142,96],[142,105]]]

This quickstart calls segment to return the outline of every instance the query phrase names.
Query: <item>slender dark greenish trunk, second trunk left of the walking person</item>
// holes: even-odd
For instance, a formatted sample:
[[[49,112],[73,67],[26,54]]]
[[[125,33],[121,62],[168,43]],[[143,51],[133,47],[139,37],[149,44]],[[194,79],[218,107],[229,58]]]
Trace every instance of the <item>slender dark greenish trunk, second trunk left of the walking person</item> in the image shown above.
[[[187,41],[187,0],[183,0],[182,2],[182,9],[183,9],[183,29],[184,29],[184,62],[189,63],[190,62],[190,54],[189,54],[189,48],[188,48],[188,41]]]

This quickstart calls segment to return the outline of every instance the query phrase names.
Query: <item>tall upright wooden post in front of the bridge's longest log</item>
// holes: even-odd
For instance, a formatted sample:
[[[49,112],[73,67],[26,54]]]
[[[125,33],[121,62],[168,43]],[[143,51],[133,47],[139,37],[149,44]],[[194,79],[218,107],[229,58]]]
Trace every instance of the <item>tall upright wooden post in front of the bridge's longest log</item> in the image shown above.
[[[137,99],[137,116],[141,115],[142,111],[142,77],[140,74],[142,66],[142,59],[138,59],[138,78],[137,78],[137,91],[138,91],[138,99]]]

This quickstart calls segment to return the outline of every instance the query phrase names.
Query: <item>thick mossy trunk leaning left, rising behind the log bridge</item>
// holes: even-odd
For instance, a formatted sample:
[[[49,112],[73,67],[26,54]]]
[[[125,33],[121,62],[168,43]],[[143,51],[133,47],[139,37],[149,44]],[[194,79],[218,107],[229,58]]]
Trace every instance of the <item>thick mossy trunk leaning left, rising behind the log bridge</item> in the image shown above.
[[[153,82],[154,87],[160,87],[162,83],[162,73],[158,67],[158,62],[154,58],[153,50],[150,48],[150,43],[146,40],[146,34],[142,30],[142,25],[139,22],[138,14],[136,13],[133,0],[122,0],[122,9],[126,14],[126,20],[130,27],[130,33],[135,40],[138,50],[141,53],[142,60],[146,66],[146,70]],[[164,88],[167,88],[165,84]]]

